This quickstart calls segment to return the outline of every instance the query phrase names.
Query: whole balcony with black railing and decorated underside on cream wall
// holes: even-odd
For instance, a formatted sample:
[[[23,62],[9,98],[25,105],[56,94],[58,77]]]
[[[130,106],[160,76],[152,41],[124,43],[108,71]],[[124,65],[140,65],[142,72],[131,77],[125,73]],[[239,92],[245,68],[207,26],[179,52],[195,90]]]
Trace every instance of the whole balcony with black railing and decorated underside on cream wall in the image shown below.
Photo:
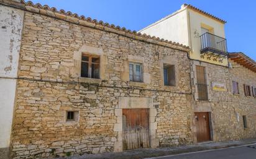
[[[211,33],[204,33],[200,36],[201,58],[222,62],[227,58],[227,40]]]

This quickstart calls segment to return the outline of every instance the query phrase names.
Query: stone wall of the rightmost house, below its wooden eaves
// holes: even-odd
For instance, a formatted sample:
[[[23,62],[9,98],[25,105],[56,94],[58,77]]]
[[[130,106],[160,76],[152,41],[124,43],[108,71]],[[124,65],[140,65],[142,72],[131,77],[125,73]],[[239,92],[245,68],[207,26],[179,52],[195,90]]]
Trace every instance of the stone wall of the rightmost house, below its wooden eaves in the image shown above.
[[[234,135],[235,139],[244,139],[256,137],[256,98],[245,97],[244,84],[250,87],[256,87],[256,73],[237,64],[234,61],[229,61],[232,64],[230,69],[230,80],[239,83],[239,95],[231,96],[232,105],[234,107]],[[231,87],[232,88],[232,87]],[[231,89],[232,92],[232,89]],[[248,127],[244,129],[242,116],[247,116]]]

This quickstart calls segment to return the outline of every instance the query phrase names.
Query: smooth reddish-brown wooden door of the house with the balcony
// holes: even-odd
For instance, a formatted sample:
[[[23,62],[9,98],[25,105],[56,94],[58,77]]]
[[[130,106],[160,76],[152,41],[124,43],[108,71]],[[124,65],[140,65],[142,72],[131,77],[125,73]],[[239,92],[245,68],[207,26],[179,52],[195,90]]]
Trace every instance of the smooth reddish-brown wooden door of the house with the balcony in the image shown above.
[[[205,142],[211,140],[209,113],[200,112],[194,113],[196,119],[196,136],[198,142]]]

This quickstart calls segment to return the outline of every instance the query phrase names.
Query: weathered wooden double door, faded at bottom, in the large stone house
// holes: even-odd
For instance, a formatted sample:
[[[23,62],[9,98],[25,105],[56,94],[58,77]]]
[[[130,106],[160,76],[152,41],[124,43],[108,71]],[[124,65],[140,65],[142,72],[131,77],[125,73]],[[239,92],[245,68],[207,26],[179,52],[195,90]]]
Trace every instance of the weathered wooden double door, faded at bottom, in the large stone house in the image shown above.
[[[123,150],[149,147],[149,109],[122,110]]]

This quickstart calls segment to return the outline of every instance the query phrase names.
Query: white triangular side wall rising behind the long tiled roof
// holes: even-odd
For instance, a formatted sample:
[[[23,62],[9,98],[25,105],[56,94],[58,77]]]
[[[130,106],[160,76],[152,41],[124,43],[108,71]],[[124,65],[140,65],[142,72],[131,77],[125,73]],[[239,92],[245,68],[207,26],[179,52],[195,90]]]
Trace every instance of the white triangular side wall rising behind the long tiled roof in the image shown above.
[[[171,15],[143,28],[140,33],[175,41],[188,46],[188,22],[186,9],[180,9]]]

